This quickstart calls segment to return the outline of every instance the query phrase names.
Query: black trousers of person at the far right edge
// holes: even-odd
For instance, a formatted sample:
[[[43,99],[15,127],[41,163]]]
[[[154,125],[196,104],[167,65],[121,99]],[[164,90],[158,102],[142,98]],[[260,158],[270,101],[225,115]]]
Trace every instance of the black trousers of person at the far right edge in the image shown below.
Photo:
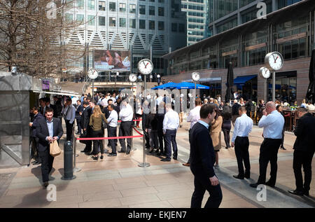
[[[296,189],[300,191],[309,191],[311,184],[311,161],[314,151],[304,152],[295,150],[293,153],[293,170],[295,176]],[[302,177],[302,166],[304,170],[304,186]]]

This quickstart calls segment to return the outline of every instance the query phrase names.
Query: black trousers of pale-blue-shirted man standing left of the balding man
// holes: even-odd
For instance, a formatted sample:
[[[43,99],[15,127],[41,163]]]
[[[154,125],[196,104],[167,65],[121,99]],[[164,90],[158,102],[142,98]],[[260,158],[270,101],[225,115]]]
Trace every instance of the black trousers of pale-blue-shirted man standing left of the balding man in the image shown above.
[[[239,176],[250,176],[251,164],[249,162],[248,153],[249,141],[248,137],[236,137],[235,139],[235,155],[237,157],[237,166],[239,167]],[[245,173],[243,167],[245,165]]]

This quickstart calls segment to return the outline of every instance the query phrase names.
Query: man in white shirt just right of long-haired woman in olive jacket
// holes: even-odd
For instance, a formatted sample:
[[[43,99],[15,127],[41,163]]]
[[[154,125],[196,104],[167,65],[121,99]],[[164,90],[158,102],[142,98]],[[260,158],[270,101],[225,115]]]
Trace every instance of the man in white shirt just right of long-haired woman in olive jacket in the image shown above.
[[[117,122],[118,122],[118,113],[115,111],[113,104],[107,106],[109,110],[109,118],[107,121],[109,122],[107,127],[107,132],[109,137],[117,137]],[[111,144],[111,153],[109,156],[116,156],[116,142],[115,139],[109,139],[109,144]]]

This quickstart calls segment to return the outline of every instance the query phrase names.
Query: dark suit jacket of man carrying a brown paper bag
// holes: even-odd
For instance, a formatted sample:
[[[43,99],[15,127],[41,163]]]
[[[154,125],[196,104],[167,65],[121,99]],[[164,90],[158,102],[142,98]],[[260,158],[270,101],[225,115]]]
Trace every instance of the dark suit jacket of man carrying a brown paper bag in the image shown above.
[[[52,118],[52,124],[54,127],[54,134],[52,137],[62,137],[64,130],[62,130],[62,124],[58,118]],[[38,151],[46,151],[49,149],[49,143],[46,141],[46,137],[49,137],[48,126],[46,119],[42,118],[36,125],[36,137],[38,137]]]

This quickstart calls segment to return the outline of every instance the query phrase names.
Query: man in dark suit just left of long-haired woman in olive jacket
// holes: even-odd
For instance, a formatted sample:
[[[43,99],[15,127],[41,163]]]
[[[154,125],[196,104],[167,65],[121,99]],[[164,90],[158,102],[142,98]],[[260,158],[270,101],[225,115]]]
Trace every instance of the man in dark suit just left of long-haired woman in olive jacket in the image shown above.
[[[83,134],[85,134],[85,136],[89,137],[90,135],[92,135],[92,129],[90,127],[90,116],[92,115],[92,108],[90,107],[89,102],[84,101],[83,102],[83,113],[82,113],[82,117],[81,117],[81,127],[83,129]],[[85,142],[85,148],[83,151],[81,151],[82,153],[90,153],[92,151],[92,140],[87,140]]]

